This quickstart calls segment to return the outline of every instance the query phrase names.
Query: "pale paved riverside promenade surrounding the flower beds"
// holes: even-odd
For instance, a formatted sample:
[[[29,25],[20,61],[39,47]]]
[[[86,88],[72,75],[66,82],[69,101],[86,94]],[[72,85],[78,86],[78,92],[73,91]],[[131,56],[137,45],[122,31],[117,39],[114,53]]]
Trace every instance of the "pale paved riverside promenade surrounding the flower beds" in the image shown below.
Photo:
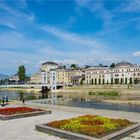
[[[66,107],[56,105],[42,105],[27,103],[28,106],[38,106],[43,109],[51,109],[52,114],[0,121],[1,140],[62,140],[59,137],[38,132],[35,125],[43,124],[54,120],[61,120],[85,114],[96,114],[107,117],[125,118],[134,122],[140,122],[140,113],[86,109],[77,107]],[[140,131],[123,138],[122,140],[140,139]]]

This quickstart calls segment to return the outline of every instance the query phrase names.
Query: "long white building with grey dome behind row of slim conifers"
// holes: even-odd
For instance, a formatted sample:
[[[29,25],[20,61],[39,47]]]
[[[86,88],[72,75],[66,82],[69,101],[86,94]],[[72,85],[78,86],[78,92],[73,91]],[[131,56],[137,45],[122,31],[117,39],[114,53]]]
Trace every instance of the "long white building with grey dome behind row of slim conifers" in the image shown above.
[[[114,68],[89,67],[85,69],[86,84],[131,84],[140,83],[140,65],[120,62]]]

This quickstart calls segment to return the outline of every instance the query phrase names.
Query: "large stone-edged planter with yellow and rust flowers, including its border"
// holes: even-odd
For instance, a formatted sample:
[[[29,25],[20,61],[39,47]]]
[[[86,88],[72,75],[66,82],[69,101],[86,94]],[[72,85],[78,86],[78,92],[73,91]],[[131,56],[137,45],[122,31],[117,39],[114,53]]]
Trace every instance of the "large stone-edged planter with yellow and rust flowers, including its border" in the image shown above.
[[[115,140],[136,131],[140,124],[126,119],[84,115],[36,125],[36,130],[67,139]]]

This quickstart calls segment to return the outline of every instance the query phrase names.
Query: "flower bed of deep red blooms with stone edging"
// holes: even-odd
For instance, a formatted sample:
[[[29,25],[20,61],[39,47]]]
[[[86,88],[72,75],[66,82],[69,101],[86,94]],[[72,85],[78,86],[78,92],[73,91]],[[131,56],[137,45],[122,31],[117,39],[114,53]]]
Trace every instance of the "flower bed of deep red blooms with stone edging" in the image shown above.
[[[0,119],[16,119],[22,117],[36,116],[41,114],[49,114],[51,111],[44,111],[40,109],[34,109],[29,107],[9,107],[0,108]]]

